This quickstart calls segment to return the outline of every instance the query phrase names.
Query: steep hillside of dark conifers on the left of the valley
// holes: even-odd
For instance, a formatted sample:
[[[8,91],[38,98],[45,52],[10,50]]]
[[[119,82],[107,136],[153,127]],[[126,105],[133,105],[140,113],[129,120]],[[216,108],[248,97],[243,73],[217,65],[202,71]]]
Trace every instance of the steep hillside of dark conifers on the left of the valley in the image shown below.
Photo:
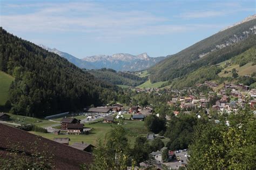
[[[68,60],[0,28],[0,70],[15,77],[11,112],[41,117],[116,98],[117,86],[95,79]]]

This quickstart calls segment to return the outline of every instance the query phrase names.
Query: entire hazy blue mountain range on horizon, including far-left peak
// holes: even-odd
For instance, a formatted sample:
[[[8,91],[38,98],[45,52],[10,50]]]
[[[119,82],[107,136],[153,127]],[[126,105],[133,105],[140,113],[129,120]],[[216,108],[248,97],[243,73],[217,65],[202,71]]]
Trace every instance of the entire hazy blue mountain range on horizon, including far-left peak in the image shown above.
[[[114,69],[116,71],[139,71],[145,70],[165,58],[149,57],[147,53],[142,53],[137,56],[130,55],[128,53],[117,53],[112,56],[97,55],[79,59],[69,53],[59,51],[55,48],[51,49],[42,44],[39,44],[39,46],[49,52],[56,53],[57,55],[68,59],[69,62],[76,66],[87,70],[107,68]]]

